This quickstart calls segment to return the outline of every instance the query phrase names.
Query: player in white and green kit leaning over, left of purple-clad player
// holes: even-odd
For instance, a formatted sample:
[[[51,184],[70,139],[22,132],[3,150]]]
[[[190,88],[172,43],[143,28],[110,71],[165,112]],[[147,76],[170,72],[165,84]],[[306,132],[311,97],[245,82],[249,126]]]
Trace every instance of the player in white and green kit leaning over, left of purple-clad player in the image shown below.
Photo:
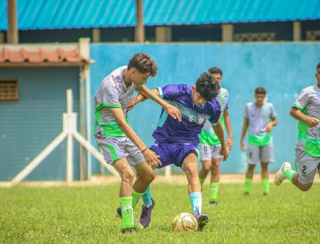
[[[103,150],[106,162],[121,177],[119,200],[123,233],[136,231],[133,210],[155,178],[152,167],[161,165],[159,156],[149,150],[128,124],[126,106],[129,98],[137,91],[159,103],[170,116],[177,119],[177,123],[181,121],[177,108],[143,86],[150,76],[156,76],[157,71],[156,63],[148,54],[135,54],[128,66],[114,70],[103,79],[94,97],[96,141]],[[133,186],[134,172],[131,166],[135,167],[138,174]]]

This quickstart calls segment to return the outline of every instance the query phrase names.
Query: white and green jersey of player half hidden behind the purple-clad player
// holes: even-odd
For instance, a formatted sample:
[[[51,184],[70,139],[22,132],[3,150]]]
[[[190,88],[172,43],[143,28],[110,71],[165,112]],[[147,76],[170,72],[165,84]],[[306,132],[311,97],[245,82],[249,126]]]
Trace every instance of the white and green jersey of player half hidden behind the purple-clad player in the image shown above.
[[[220,121],[224,126],[224,117],[223,113],[226,109],[229,109],[229,92],[225,88],[220,88],[219,95],[217,97],[220,107],[221,107],[221,114],[220,114]],[[212,125],[210,122],[206,121],[204,124],[201,133],[199,134],[199,141],[201,144],[206,144],[209,146],[219,145],[220,141],[217,135],[214,133],[212,129]]]

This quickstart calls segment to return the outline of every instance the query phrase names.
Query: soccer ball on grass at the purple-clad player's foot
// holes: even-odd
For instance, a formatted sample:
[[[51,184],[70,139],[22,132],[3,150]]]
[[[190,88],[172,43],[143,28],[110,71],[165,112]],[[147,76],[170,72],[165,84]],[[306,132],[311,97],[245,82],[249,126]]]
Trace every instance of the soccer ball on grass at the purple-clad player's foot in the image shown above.
[[[172,220],[172,230],[175,232],[197,231],[198,221],[189,213],[180,213]]]

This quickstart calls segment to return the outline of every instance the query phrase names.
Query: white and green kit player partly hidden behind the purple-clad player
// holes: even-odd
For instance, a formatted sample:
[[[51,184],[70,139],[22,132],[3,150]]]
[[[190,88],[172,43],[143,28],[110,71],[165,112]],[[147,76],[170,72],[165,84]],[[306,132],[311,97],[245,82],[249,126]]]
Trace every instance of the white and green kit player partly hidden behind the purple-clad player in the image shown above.
[[[208,72],[221,84],[222,82],[222,70],[217,67],[211,67]],[[232,131],[231,122],[229,116],[229,93],[226,89],[220,88],[218,95],[218,100],[221,107],[221,124],[226,126],[228,133],[227,146],[231,150],[232,148]],[[219,138],[214,133],[212,126],[209,121],[207,121],[202,132],[199,135],[199,148],[201,155],[202,168],[199,171],[199,180],[201,183],[201,188],[203,188],[203,183],[207,178],[209,171],[211,171],[210,179],[210,201],[211,205],[217,205],[217,196],[219,190],[219,179],[220,179],[220,149],[221,144]]]

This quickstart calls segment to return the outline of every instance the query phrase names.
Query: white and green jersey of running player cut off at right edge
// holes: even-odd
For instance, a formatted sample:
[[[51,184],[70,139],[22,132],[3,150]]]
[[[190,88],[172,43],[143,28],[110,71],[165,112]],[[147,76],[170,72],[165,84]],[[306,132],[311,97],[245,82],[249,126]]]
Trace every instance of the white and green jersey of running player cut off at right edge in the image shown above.
[[[300,109],[305,115],[320,119],[320,88],[313,85],[303,89],[292,107]],[[320,157],[320,123],[311,128],[306,122],[299,121],[298,130],[297,148],[312,157]]]

